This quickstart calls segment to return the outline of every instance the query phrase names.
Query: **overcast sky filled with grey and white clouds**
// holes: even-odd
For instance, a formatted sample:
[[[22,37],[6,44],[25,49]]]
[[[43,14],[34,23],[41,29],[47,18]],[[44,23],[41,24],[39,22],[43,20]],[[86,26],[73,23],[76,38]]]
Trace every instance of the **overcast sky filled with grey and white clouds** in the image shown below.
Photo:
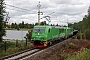
[[[9,12],[8,23],[30,23],[38,22],[38,7],[40,1],[40,11],[44,16],[50,16],[51,22],[45,18],[40,22],[46,21],[48,24],[67,25],[82,21],[87,15],[90,0],[5,0],[6,11]]]

